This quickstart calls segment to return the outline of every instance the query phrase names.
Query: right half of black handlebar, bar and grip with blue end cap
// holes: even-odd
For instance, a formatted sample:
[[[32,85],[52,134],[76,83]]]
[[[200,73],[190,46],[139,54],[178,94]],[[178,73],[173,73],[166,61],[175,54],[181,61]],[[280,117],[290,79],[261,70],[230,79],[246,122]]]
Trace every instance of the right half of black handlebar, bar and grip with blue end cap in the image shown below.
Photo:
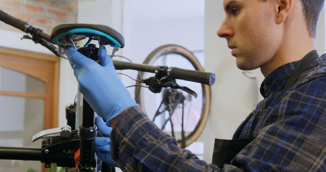
[[[135,64],[130,62],[113,61],[116,70],[132,69],[142,72],[156,73],[161,67],[150,66],[145,64]],[[173,79],[182,79],[187,81],[199,82],[207,85],[212,85],[215,82],[215,74],[202,72],[197,70],[180,69],[176,67],[168,68],[167,75]]]

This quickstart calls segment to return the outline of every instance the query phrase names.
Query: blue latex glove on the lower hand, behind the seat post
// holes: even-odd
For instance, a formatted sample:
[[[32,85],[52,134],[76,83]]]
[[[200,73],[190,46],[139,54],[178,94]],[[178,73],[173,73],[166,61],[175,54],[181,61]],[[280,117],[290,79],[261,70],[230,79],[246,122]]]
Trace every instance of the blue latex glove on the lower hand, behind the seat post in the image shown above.
[[[112,131],[111,127],[107,127],[103,119],[99,116],[95,119],[97,129],[104,134],[105,137],[95,138],[95,153],[105,163],[109,165],[118,166],[116,161],[113,160],[110,154],[110,134]]]

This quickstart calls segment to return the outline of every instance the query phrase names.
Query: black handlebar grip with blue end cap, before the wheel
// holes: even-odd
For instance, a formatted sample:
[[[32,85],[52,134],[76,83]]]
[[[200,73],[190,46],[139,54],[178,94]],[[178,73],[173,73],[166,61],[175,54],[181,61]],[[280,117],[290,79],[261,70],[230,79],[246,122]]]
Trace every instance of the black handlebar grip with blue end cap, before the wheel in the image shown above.
[[[180,69],[176,67],[169,68],[170,77],[174,79],[183,79],[193,82],[199,82],[207,85],[213,85],[215,82],[215,74],[196,71],[196,70],[187,70]]]

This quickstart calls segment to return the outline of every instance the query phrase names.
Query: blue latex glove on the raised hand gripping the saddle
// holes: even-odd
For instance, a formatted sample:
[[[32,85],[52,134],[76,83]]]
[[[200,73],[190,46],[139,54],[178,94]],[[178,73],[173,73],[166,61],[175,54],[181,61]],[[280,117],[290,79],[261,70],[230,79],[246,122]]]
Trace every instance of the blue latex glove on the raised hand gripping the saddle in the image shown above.
[[[104,46],[99,47],[102,66],[69,47],[66,49],[79,91],[108,126],[128,107],[138,105],[121,82]]]

